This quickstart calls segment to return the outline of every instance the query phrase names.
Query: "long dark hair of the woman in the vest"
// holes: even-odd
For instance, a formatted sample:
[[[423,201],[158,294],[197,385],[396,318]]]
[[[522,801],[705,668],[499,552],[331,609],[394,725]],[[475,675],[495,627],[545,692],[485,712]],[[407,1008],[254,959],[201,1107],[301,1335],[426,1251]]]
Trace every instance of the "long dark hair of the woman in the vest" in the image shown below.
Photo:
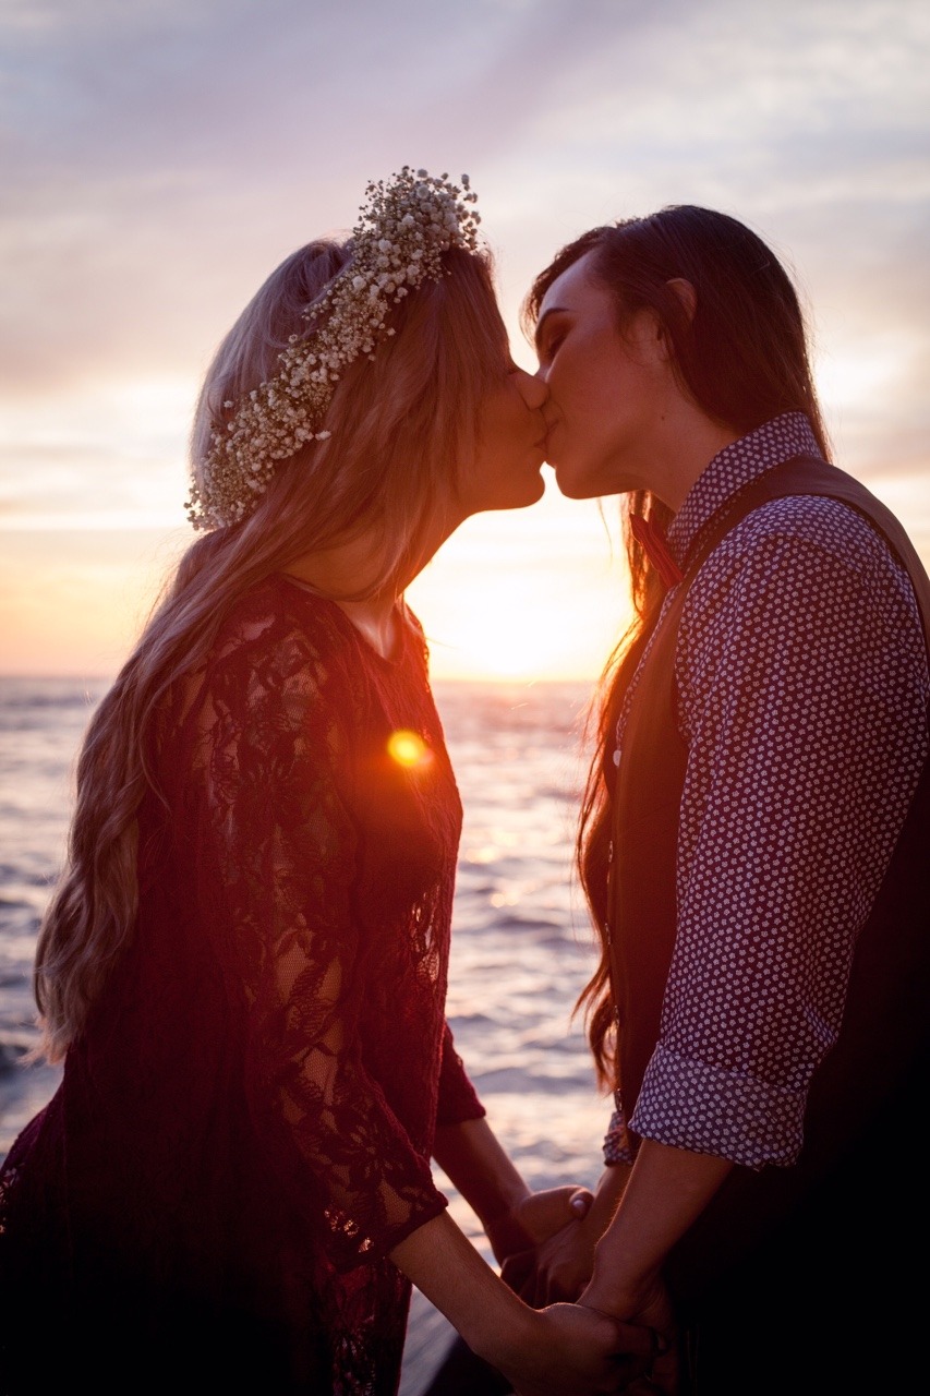
[[[593,254],[592,275],[614,296],[619,328],[623,331],[637,311],[651,310],[670,348],[681,391],[712,422],[744,436],[783,412],[803,412],[822,454],[829,455],[799,296],[761,237],[728,214],[691,204],[592,228],[563,247],[536,276],[524,302],[526,328],[536,324],[553,282],[588,253]],[[676,279],[694,288],[693,313],[670,285]],[[659,579],[630,532],[630,514],[660,525],[670,518],[667,507],[649,491],[624,497],[633,621],[607,659],[595,694],[593,755],[575,842],[581,885],[600,937],[598,969],[577,1007],[586,1011],[600,1083],[612,1083],[616,1054],[605,930],[612,822],[605,755],[662,599]]]

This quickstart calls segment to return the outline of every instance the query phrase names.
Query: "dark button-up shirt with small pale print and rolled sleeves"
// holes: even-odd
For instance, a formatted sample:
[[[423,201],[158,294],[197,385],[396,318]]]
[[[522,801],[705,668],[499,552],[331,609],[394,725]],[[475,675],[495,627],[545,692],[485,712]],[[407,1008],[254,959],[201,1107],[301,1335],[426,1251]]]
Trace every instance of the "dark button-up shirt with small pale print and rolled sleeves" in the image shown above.
[[[800,413],[721,451],[669,529],[679,565],[739,486],[800,454],[820,455]],[[753,1168],[790,1164],[927,758],[930,680],[908,575],[849,505],[769,501],[694,579],[676,678],[688,762],[674,953],[630,1131],[617,1100],[605,1159],[631,1159],[640,1136]],[[620,751],[623,726],[624,715]]]

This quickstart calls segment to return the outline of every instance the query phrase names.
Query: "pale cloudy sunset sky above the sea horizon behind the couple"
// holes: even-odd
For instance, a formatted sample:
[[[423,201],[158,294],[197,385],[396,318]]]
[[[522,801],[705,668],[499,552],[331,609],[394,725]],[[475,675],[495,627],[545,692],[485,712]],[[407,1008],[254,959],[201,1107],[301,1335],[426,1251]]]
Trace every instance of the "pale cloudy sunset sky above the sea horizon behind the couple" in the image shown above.
[[[468,172],[514,356],[595,223],[697,202],[795,272],[836,463],[930,561],[930,6],[0,0],[0,671],[112,674],[190,540],[200,376],[404,163]],[[437,677],[593,677],[614,500],[471,519],[411,589]]]

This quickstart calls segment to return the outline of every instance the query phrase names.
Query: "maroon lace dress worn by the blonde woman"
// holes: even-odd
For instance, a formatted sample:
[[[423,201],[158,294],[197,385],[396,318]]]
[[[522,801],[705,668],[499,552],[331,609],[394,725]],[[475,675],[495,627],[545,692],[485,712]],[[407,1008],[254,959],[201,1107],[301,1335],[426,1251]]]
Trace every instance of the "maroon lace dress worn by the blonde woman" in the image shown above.
[[[437,1121],[483,1114],[444,1018],[461,805],[422,631],[384,660],[272,578],[151,761],[131,949],[0,1180],[0,1392],[394,1393],[387,1252],[445,1206]]]

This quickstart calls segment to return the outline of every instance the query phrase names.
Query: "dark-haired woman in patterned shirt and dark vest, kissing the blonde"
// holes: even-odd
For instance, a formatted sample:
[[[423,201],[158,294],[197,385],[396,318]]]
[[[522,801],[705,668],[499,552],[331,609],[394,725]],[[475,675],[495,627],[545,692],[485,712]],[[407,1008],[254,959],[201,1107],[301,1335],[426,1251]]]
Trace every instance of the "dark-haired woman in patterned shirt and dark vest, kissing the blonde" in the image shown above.
[[[624,497],[634,621],[578,836],[616,1113],[522,1293],[656,1328],[654,1389],[915,1390],[926,571],[827,463],[797,295],[743,223],[593,229],[526,315],[559,487]]]

